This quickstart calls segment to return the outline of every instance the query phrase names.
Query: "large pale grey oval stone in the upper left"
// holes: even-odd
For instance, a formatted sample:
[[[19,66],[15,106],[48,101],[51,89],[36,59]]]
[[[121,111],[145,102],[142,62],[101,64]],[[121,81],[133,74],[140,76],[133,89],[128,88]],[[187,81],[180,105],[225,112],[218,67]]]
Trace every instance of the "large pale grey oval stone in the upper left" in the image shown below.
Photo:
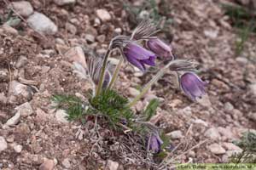
[[[27,19],[27,23],[33,30],[43,34],[54,35],[58,28],[52,20],[49,20],[44,14],[35,12]]]

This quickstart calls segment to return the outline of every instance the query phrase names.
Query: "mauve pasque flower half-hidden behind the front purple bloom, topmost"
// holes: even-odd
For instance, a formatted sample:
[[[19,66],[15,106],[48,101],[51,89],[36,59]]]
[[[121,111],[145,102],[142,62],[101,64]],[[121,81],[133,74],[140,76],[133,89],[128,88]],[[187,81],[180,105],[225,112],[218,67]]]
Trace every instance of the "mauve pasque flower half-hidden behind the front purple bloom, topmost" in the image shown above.
[[[165,42],[162,42],[159,38],[152,38],[146,42],[146,47],[154,54],[160,57],[169,58],[172,57],[172,48]]]

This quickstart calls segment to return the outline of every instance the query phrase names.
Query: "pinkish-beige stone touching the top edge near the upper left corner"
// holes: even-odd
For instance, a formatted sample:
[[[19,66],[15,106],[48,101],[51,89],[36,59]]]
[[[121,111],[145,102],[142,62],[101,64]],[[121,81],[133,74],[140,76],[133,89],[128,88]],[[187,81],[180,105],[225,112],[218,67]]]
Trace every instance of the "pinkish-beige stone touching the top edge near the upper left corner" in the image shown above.
[[[27,1],[17,1],[9,5],[9,8],[13,7],[15,11],[21,16],[27,17],[33,13],[33,8],[31,3]]]

